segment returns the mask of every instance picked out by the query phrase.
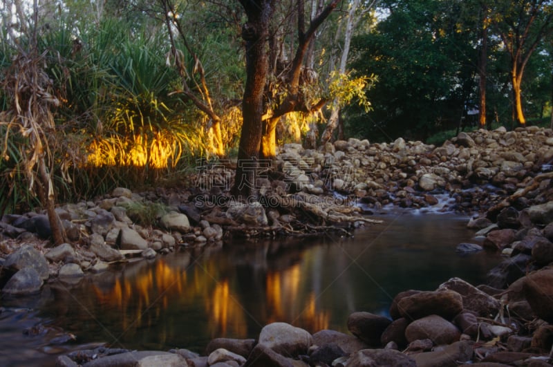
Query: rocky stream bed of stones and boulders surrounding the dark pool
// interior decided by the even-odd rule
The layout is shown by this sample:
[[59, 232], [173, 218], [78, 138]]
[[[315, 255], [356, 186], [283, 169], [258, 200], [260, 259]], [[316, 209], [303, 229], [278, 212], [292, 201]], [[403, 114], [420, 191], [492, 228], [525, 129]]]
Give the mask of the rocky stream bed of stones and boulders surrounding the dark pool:
[[[42, 213], [0, 221], [0, 285], [9, 297], [53, 279], [102, 272], [112, 263], [162, 256], [227, 236], [348, 235], [386, 205], [471, 215], [482, 247], [505, 260], [486, 284], [449, 279], [434, 291], [395, 296], [390, 318], [359, 310], [350, 334], [310, 334], [288, 323], [257, 339], [214, 339], [204, 353], [102, 346], [57, 359], [59, 366], [552, 366], [553, 131], [530, 126], [460, 133], [440, 147], [395, 140], [337, 141], [319, 150], [286, 144], [262, 162], [256, 200], [229, 196], [232, 170], [208, 162], [196, 185], [142, 193], [118, 188], [57, 209], [71, 243], [52, 247]], [[152, 225], [153, 224], [153, 225]], [[1, 308], [0, 308], [1, 312]]]

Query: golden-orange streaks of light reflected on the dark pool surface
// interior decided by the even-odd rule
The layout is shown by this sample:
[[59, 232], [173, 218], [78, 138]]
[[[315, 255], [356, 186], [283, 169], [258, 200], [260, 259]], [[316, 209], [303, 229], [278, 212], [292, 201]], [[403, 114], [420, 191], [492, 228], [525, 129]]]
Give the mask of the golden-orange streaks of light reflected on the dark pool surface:
[[[245, 338], [247, 312], [241, 299], [233, 292], [229, 279], [217, 281], [216, 265], [207, 262], [194, 267], [187, 275], [182, 267], [171, 267], [165, 261], [144, 266], [134, 276], [122, 276], [106, 290], [94, 285], [96, 301], [118, 308], [116, 317], [126, 333], [158, 324], [164, 312], [184, 309], [200, 300], [207, 317], [206, 328], [212, 337]], [[260, 313], [266, 310], [266, 319], [260, 323], [286, 321], [312, 331], [328, 328], [330, 313], [317, 310], [314, 292], [301, 297], [300, 264], [266, 274], [265, 304], [260, 300]], [[201, 301], [200, 301], [201, 302]], [[255, 313], [255, 312], [254, 312]], [[160, 335], [169, 335], [174, 325], [157, 325]]]

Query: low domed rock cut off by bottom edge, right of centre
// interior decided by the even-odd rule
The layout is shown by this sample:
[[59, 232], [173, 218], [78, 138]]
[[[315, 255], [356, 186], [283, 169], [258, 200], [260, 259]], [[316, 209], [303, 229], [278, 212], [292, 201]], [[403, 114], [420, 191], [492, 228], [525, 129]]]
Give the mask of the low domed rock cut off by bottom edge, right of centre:
[[415, 360], [393, 349], [363, 349], [348, 359], [347, 366], [355, 367], [417, 367]]

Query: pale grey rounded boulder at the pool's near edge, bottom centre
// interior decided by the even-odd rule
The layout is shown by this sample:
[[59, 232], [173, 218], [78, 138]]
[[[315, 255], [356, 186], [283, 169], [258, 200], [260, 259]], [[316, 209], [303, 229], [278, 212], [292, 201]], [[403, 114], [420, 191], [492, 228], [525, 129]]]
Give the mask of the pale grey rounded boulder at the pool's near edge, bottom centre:
[[286, 357], [297, 357], [307, 354], [313, 344], [313, 338], [306, 330], [289, 323], [276, 322], [261, 329], [259, 344]]

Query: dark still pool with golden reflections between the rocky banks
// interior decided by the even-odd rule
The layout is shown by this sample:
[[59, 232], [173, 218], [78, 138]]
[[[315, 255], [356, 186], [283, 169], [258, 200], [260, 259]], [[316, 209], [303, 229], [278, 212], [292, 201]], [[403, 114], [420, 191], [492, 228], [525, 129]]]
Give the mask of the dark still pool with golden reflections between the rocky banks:
[[[50, 283], [29, 299], [4, 297], [0, 343], [8, 348], [0, 362], [44, 365], [56, 353], [98, 344], [202, 352], [210, 339], [255, 338], [274, 321], [347, 332], [351, 312], [386, 315], [397, 292], [434, 290], [453, 276], [483, 283], [500, 261], [456, 254], [459, 243], [474, 242], [466, 217], [379, 218], [383, 224], [353, 238], [234, 240], [126, 263], [75, 284]], [[28, 335], [33, 326], [45, 328]], [[62, 331], [76, 340], [59, 343]]]

